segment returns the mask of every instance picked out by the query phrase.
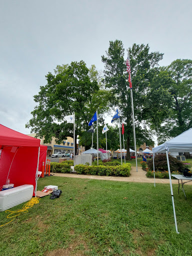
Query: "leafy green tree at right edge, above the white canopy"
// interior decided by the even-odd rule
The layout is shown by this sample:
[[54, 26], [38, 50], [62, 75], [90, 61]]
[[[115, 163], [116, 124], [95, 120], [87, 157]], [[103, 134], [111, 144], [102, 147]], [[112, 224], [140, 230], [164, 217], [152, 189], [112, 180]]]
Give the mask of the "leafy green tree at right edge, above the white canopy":
[[176, 59], [162, 67], [150, 87], [150, 120], [163, 142], [192, 127], [192, 60]]

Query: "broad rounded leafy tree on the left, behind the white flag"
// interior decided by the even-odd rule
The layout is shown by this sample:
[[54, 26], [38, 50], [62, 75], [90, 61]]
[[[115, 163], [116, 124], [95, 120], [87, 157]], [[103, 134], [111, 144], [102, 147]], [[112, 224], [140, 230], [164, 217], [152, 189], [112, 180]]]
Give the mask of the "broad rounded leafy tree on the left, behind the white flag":
[[63, 117], [75, 113], [76, 145], [77, 135], [88, 129], [95, 110], [99, 108], [102, 114], [107, 109], [108, 93], [99, 89], [96, 70], [92, 69], [93, 74], [81, 60], [57, 65], [55, 74], [48, 72], [47, 84], [34, 95], [37, 105], [26, 127], [31, 127], [37, 136], [44, 136], [45, 142], [54, 136], [61, 143], [67, 136], [73, 137], [73, 124], [66, 123]]

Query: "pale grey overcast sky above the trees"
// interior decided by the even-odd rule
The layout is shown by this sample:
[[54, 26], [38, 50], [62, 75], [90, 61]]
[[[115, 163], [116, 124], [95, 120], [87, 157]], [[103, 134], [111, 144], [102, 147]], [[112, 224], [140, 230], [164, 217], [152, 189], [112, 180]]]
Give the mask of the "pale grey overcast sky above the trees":
[[0, 124], [30, 133], [25, 123], [45, 75], [81, 59], [103, 69], [109, 40], [125, 49], [148, 43], [164, 53], [160, 65], [191, 59], [191, 7], [191, 0], [0, 0]]

